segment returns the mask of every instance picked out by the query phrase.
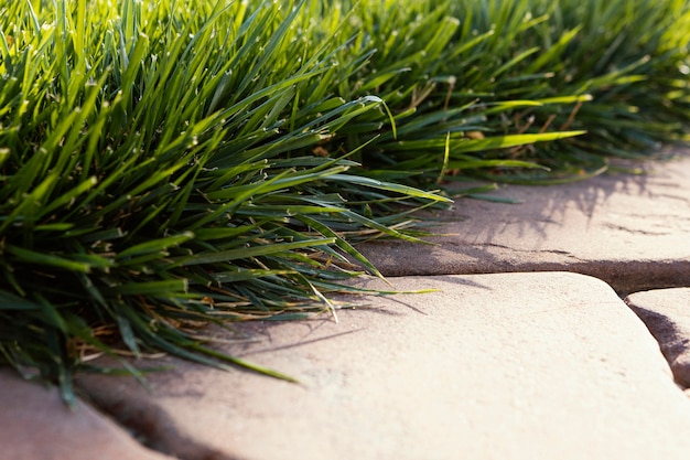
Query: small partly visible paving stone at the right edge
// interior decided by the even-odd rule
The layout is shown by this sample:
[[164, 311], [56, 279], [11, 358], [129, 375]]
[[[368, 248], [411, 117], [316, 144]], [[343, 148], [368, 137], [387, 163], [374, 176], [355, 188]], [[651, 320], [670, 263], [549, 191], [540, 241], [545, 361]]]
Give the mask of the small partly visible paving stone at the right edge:
[[690, 387], [690, 288], [636, 292], [625, 302], [659, 342], [676, 381]]

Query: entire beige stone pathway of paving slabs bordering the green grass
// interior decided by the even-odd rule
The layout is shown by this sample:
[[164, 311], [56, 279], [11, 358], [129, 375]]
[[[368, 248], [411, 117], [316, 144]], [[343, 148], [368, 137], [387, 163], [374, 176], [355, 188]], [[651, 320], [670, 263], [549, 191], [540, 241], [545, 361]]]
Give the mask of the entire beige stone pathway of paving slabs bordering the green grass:
[[164, 357], [141, 363], [175, 366], [152, 393], [82, 376], [69, 411], [0, 372], [0, 459], [686, 459], [690, 157], [654, 168], [508, 186], [524, 204], [463, 200], [436, 246], [363, 247], [433, 292], [211, 331], [300, 384]]

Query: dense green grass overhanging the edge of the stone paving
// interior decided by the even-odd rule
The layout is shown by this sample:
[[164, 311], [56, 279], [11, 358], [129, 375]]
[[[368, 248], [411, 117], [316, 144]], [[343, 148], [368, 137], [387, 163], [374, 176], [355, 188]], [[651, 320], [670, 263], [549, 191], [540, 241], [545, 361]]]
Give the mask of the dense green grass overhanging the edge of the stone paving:
[[289, 378], [195, 328], [334, 311], [448, 179], [683, 139], [688, 6], [0, 1], [0, 360], [67, 399], [93, 352]]

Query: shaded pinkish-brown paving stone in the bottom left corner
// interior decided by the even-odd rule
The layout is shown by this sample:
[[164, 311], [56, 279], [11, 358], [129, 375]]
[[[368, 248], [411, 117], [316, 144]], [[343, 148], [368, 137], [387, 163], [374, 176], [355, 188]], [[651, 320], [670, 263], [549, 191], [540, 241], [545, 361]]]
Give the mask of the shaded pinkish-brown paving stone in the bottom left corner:
[[7, 368], [0, 368], [0, 459], [172, 460], [141, 447], [88, 405], [69, 409], [56, 388]]

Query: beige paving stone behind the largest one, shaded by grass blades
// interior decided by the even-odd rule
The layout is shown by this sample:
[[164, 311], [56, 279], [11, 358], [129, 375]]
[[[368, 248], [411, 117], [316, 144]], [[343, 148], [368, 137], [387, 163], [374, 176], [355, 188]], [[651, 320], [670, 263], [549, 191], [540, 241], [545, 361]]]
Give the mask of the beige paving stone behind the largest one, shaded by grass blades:
[[386, 276], [563, 270], [621, 293], [690, 286], [690, 154], [647, 175], [552, 188], [505, 186], [522, 204], [461, 200], [430, 238], [438, 246], [358, 246]]

